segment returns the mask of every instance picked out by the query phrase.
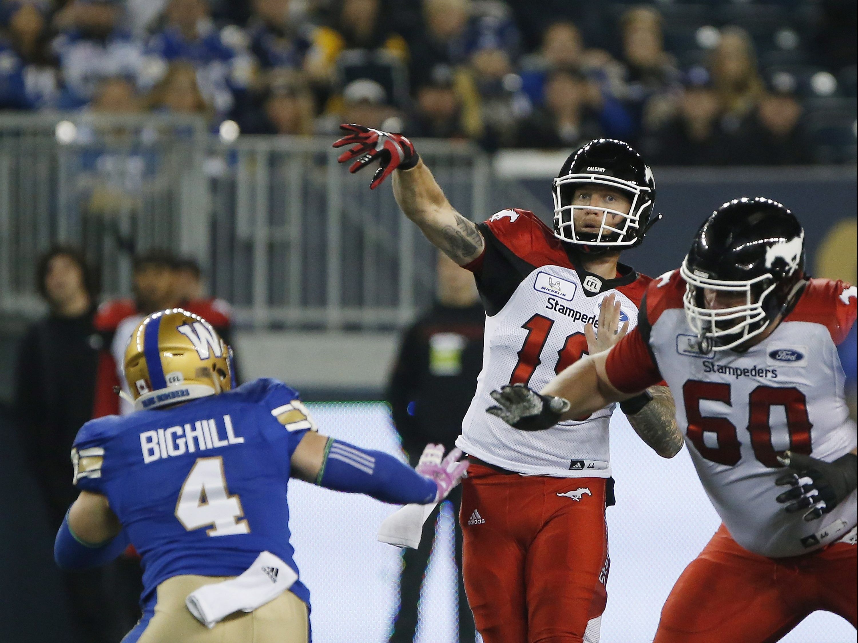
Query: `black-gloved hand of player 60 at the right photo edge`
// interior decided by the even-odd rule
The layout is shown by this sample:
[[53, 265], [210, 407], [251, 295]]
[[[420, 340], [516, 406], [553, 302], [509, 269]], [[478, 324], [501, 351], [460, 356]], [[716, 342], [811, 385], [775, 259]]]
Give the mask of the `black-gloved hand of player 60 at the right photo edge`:
[[791, 488], [776, 500], [786, 505], [789, 514], [807, 509], [804, 519], [808, 522], [831, 512], [858, 486], [858, 456], [855, 454], [825, 462], [785, 451], [777, 460], [790, 471], [777, 478], [775, 484]]

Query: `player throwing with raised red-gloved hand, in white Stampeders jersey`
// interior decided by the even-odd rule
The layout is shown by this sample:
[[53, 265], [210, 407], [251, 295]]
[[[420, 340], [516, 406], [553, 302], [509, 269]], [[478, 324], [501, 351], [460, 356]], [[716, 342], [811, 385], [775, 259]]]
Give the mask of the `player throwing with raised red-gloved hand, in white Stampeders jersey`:
[[[335, 147], [354, 147], [339, 160], [357, 159], [352, 172], [380, 160], [371, 188], [399, 170], [394, 194], [402, 212], [474, 273], [486, 308], [483, 370], [456, 442], [471, 462], [459, 520], [477, 629], [486, 643], [595, 642], [607, 600], [613, 409], [538, 433], [511, 430], [484, 409], [492, 388], [541, 387], [635, 324], [650, 279], [618, 258], [656, 220], [652, 172], [625, 143], [591, 141], [554, 181], [553, 231], [519, 209], [475, 225], [450, 205], [407, 138], [360, 125], [341, 129], [349, 134]], [[653, 384], [622, 410], [650, 447], [672, 457], [682, 446], [673, 400]]]

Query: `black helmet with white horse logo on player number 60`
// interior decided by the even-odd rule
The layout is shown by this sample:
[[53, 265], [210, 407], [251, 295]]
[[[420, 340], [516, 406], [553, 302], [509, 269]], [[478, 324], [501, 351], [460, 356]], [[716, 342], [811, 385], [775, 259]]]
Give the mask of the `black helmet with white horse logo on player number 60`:
[[[761, 196], [719, 207], [680, 267], [686, 319], [701, 348], [726, 351], [762, 333], [795, 300], [804, 265], [804, 230], [786, 207]], [[705, 291], [734, 292], [744, 302], [707, 308]]]

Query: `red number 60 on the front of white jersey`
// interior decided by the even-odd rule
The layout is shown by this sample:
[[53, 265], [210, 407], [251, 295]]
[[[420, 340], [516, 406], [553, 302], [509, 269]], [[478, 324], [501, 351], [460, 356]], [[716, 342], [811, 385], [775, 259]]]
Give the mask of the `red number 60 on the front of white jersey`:
[[[736, 427], [727, 418], [710, 418], [700, 414], [700, 400], [713, 400], [732, 406], [730, 385], [720, 382], [689, 380], [682, 386], [688, 418], [688, 439], [706, 460], [734, 466], [741, 459]], [[781, 467], [771, 443], [769, 412], [772, 406], [782, 406], [787, 415], [789, 450], [797, 454], [811, 453], [810, 418], [807, 399], [798, 388], [758, 386], [748, 400], [748, 433], [757, 460], [771, 468]], [[707, 436], [707, 434], [709, 434]]]

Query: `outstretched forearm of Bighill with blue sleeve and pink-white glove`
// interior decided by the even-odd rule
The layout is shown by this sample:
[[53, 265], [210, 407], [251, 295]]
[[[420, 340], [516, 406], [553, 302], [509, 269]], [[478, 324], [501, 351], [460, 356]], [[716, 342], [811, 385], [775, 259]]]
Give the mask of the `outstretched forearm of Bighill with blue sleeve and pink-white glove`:
[[416, 469], [392, 455], [356, 447], [308, 431], [292, 455], [293, 478], [336, 491], [362, 493], [393, 504], [428, 504], [443, 500], [468, 470], [453, 449], [426, 446]]

